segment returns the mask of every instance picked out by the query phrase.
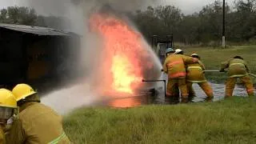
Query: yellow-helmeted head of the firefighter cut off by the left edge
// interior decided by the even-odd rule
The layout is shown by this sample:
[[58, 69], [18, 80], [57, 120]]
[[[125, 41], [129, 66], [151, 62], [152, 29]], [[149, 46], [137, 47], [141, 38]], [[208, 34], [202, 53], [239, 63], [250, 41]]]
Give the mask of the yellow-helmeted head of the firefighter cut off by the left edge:
[[0, 123], [6, 123], [17, 108], [14, 94], [10, 90], [0, 89]]

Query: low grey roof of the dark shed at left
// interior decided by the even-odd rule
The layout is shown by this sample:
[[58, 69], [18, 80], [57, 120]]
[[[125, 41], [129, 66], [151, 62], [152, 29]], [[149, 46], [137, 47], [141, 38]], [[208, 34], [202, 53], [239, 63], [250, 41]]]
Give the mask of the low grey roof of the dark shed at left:
[[40, 27], [40, 26], [25, 26], [25, 25], [0, 23], [0, 28], [21, 31], [29, 34], [38, 34], [38, 35], [62, 35], [62, 36], [72, 35], [72, 33], [65, 32], [62, 30], [55, 30], [52, 28]]

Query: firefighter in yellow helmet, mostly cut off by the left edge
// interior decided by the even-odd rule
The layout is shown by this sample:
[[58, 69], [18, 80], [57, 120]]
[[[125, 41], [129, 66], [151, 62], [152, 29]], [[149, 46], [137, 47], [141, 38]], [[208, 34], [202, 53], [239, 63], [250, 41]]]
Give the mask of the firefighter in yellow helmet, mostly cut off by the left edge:
[[0, 89], [0, 143], [5, 144], [6, 126], [8, 119], [17, 111], [17, 102], [10, 90]]

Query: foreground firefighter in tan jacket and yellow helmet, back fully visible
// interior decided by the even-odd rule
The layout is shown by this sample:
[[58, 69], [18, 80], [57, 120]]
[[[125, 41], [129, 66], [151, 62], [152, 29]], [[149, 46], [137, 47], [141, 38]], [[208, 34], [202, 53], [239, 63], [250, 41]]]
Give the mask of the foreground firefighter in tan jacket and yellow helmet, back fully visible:
[[20, 112], [6, 134], [7, 143], [70, 143], [62, 128], [62, 117], [40, 103], [31, 86], [18, 84], [12, 92]]

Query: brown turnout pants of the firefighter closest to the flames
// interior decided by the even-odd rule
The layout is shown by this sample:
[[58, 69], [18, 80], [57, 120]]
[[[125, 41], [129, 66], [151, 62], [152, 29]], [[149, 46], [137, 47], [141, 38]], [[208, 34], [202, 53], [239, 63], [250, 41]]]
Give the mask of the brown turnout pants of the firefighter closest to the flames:
[[[178, 86], [178, 87], [177, 87]], [[169, 78], [167, 83], [166, 95], [174, 97], [181, 91], [182, 98], [188, 97], [188, 91], [186, 88], [186, 78]]]

